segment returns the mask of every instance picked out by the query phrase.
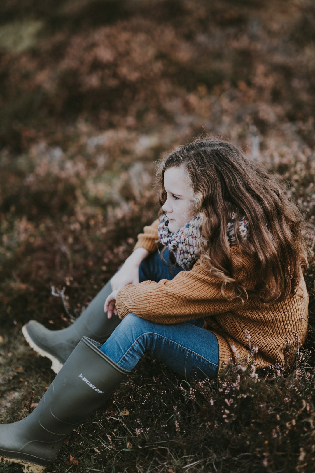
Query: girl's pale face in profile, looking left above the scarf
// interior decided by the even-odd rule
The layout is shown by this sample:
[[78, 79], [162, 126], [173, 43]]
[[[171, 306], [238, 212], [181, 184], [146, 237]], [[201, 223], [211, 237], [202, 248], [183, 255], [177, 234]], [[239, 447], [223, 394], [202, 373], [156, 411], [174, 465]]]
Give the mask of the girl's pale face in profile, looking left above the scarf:
[[172, 166], [166, 169], [164, 188], [167, 199], [162, 205], [162, 210], [169, 220], [170, 232], [174, 233], [195, 216], [193, 189], [187, 183], [184, 166]]

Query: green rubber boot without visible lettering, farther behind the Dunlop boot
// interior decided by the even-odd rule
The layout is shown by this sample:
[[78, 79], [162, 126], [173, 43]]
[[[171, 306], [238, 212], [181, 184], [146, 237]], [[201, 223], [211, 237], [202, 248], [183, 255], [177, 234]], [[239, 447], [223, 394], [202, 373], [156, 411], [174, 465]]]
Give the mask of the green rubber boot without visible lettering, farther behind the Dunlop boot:
[[111, 294], [109, 281], [90, 302], [77, 320], [63, 330], [49, 330], [36, 320], [30, 320], [22, 328], [26, 342], [41, 356], [51, 360], [51, 369], [57, 374], [82, 337], [104, 343], [120, 323], [119, 317], [111, 319], [104, 313], [104, 303]]

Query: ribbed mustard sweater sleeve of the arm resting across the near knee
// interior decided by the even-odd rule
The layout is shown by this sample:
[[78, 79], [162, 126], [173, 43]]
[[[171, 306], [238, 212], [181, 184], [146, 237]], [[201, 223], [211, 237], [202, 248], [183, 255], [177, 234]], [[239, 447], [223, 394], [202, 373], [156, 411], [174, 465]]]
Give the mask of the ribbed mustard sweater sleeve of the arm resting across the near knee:
[[[226, 291], [229, 297], [229, 291]], [[120, 289], [116, 299], [119, 317], [129, 312], [162, 324], [176, 324], [245, 307], [240, 298], [229, 301], [221, 293], [221, 281], [198, 262], [191, 271], [181, 271], [174, 279], [144, 281]]]

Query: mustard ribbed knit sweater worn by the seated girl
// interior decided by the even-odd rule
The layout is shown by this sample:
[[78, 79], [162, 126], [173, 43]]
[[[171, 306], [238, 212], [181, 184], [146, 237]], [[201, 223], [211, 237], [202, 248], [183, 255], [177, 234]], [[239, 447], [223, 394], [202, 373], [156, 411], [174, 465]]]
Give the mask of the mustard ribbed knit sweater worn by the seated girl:
[[[144, 228], [138, 235], [135, 249], [142, 247], [156, 251], [159, 220]], [[249, 258], [241, 255], [238, 245], [231, 247], [233, 278], [242, 280], [247, 289], [254, 289], [254, 268]], [[301, 272], [298, 291], [293, 297], [270, 304], [262, 309], [250, 298], [229, 301], [221, 295], [221, 281], [198, 261], [191, 271], [181, 271], [174, 279], [159, 282], [144, 281], [136, 286], [129, 284], [120, 289], [116, 307], [119, 317], [129, 312], [138, 317], [161, 324], [177, 324], [191, 318], [203, 317], [204, 329], [213, 332], [219, 342], [219, 362], [236, 359], [234, 345], [239, 358], [246, 358], [245, 331], [251, 335], [251, 343], [258, 346], [256, 368], [269, 367], [275, 363], [284, 366], [284, 350], [288, 342], [294, 345], [296, 333], [303, 343], [307, 333], [308, 294]], [[294, 361], [290, 356], [289, 364]]]

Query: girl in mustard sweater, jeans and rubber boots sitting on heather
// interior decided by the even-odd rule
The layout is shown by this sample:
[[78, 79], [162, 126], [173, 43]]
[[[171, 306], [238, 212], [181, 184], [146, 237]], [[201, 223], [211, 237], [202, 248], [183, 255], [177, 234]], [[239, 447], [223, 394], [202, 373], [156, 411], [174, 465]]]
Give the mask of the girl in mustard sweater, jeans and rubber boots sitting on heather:
[[23, 327], [55, 371], [64, 366], [28, 417], [0, 426], [2, 461], [43, 471], [145, 351], [183, 376], [213, 378], [246, 359], [247, 330], [256, 368], [284, 367], [287, 342], [304, 342], [304, 224], [281, 184], [211, 139], [171, 152], [157, 184], [160, 218], [75, 324]]

